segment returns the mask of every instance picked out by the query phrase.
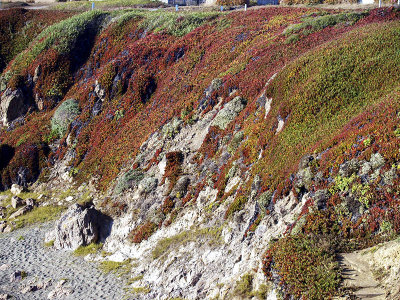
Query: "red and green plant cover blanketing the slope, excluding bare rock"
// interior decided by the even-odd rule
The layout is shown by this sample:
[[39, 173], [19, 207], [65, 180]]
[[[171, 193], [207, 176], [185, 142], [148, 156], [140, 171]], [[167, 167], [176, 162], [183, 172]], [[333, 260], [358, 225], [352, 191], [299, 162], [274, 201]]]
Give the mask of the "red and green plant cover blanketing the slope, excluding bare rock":
[[[192, 163], [217, 161], [225, 146], [227, 159], [199, 172], [181, 202], [211, 186], [217, 205], [234, 198], [230, 219], [257, 199], [251, 234], [280, 199], [304, 201], [266, 249], [264, 271], [286, 295], [329, 298], [340, 283], [339, 251], [400, 230], [399, 24], [393, 8], [94, 11], [49, 26], [18, 55], [2, 40], [1, 49], [16, 51], [4, 60], [3, 97], [19, 89], [35, 104], [0, 132], [0, 184], [45, 180], [70, 152], [76, 183], [96, 178], [99, 190], [116, 183], [122, 193], [143, 180], [137, 164], [115, 179], [153, 132], [168, 123], [172, 139], [219, 105]], [[140, 168], [159, 163], [162, 151]], [[166, 154], [163, 182], [177, 184], [183, 160], [180, 151]], [[227, 189], [232, 172], [245, 184]], [[173, 214], [174, 201], [164, 199], [163, 215]], [[131, 240], [147, 239], [162, 222], [143, 222]]]

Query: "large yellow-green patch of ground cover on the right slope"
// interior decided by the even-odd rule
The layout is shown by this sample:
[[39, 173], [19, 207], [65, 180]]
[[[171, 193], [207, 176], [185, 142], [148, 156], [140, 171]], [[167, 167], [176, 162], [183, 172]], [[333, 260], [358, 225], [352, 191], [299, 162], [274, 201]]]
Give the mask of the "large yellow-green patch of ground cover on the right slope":
[[367, 25], [307, 53], [277, 75], [266, 92], [273, 99], [270, 115], [287, 120], [253, 168], [255, 174], [275, 174], [266, 185], [277, 187], [278, 174], [317, 143], [323, 149], [331, 146], [351, 118], [397, 89], [399, 31], [398, 22]]

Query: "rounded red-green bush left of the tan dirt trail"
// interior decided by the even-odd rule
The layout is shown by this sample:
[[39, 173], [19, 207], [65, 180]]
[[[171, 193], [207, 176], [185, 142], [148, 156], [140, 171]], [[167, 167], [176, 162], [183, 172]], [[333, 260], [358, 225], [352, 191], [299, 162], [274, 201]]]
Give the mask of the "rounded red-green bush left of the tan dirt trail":
[[279, 276], [286, 292], [296, 298], [329, 299], [340, 285], [331, 244], [317, 236], [286, 236], [268, 249], [263, 264], [268, 278]]

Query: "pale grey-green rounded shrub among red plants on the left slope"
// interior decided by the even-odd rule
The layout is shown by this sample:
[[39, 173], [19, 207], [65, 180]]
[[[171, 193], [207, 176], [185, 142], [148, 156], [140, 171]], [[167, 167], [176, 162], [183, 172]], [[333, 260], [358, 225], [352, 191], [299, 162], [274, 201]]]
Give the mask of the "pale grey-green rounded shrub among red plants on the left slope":
[[79, 115], [79, 105], [74, 99], [64, 101], [51, 119], [51, 130], [58, 137], [63, 137], [71, 122]]

